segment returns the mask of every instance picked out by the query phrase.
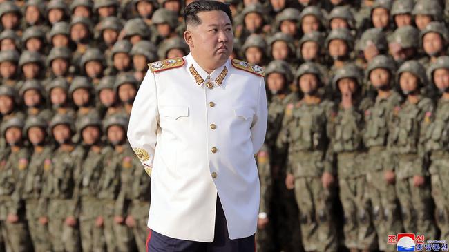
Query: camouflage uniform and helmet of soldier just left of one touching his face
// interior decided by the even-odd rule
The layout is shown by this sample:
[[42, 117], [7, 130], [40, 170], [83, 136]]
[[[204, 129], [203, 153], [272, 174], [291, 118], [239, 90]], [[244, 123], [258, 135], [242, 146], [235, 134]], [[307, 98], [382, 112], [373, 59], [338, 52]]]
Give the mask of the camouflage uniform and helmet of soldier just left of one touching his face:
[[[316, 74], [313, 63], [304, 63], [296, 72]], [[296, 202], [300, 211], [300, 227], [305, 251], [336, 251], [338, 241], [332, 219], [332, 188], [321, 182], [324, 172], [334, 174], [327, 158], [328, 121], [333, 104], [329, 101], [307, 104], [289, 103], [276, 145], [288, 149], [287, 173], [293, 174]]]

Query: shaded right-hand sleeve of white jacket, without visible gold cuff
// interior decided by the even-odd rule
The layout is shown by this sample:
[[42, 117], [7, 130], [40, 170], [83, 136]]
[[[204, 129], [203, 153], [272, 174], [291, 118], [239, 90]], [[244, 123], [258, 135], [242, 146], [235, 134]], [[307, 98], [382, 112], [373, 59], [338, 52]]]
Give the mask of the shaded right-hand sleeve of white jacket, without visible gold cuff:
[[251, 125], [251, 141], [253, 142], [254, 155], [256, 155], [262, 147], [267, 133], [268, 106], [263, 77], [260, 78], [257, 111], [254, 119]]

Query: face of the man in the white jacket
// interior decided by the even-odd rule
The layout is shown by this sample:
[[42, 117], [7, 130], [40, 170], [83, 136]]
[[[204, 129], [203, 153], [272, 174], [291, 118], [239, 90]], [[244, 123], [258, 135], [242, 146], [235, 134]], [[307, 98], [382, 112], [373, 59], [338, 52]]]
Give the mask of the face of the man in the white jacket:
[[187, 25], [184, 34], [191, 52], [200, 61], [224, 63], [233, 49], [231, 20], [225, 12], [213, 10], [198, 13], [200, 25]]

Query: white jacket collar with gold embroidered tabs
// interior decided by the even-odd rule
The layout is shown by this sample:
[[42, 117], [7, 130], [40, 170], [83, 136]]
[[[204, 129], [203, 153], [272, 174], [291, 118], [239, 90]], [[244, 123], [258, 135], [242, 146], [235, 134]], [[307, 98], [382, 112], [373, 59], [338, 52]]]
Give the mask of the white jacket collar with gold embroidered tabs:
[[187, 71], [195, 81], [195, 85], [197, 85], [198, 87], [202, 87], [202, 85], [211, 85], [208, 85], [210, 77], [210, 81], [213, 84], [211, 87], [223, 87], [223, 85], [225, 84], [225, 78], [229, 71], [229, 60], [227, 60], [226, 63], [222, 66], [216, 68], [216, 70], [213, 70], [211, 74], [207, 74], [207, 72], [202, 69], [200, 65], [198, 65], [195, 59], [193, 59], [191, 53], [186, 56], [186, 60]]

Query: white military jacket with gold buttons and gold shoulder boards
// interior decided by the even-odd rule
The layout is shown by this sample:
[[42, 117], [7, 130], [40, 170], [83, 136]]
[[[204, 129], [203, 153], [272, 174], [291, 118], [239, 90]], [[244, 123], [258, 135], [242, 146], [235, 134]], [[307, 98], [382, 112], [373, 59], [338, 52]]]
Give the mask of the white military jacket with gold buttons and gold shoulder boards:
[[254, 155], [267, 128], [262, 68], [228, 60], [209, 78], [191, 54], [149, 67], [127, 133], [151, 175], [148, 227], [213, 242], [218, 193], [229, 238], [253, 235], [260, 200]]

